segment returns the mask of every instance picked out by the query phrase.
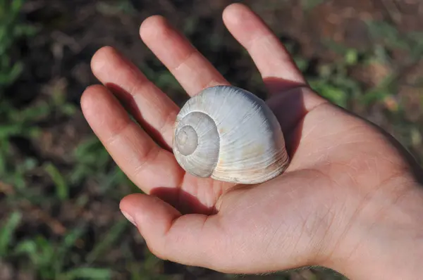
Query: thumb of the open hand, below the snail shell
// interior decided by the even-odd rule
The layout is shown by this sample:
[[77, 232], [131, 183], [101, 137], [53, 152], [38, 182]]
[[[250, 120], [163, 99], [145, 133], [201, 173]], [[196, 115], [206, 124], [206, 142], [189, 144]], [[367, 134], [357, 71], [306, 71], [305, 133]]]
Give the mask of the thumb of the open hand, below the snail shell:
[[120, 208], [157, 257], [222, 271], [225, 238], [219, 215], [181, 215], [160, 198], [140, 193], [123, 198]]

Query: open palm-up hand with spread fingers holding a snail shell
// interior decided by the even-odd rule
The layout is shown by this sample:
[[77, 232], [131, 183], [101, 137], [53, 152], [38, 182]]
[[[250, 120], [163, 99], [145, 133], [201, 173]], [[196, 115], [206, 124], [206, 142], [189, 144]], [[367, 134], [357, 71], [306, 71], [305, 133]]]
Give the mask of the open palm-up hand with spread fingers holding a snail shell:
[[[228, 273], [321, 265], [350, 279], [421, 276], [422, 170], [415, 160], [379, 127], [309, 89], [249, 8], [228, 6], [223, 22], [255, 62], [286, 136], [288, 170], [264, 184], [185, 173], [171, 153], [178, 106], [115, 49], [105, 46], [92, 58], [102, 85], [85, 90], [82, 111], [144, 192], [123, 198], [120, 208], [152, 253]], [[147, 18], [140, 37], [190, 96], [229, 84], [164, 18]]]

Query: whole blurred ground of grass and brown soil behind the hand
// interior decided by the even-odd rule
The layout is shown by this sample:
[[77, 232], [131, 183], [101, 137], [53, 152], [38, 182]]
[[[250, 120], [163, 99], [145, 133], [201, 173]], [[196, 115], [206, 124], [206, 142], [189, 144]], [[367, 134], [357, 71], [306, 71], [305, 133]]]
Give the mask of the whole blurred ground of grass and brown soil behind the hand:
[[[186, 95], [138, 30], [166, 16], [233, 84], [264, 96], [247, 53], [223, 27], [229, 0], [0, 0], [0, 279], [343, 279], [323, 268], [235, 276], [163, 262], [118, 209], [139, 191], [80, 111], [104, 45], [178, 104]], [[423, 159], [421, 0], [262, 0], [248, 4], [322, 95]]]

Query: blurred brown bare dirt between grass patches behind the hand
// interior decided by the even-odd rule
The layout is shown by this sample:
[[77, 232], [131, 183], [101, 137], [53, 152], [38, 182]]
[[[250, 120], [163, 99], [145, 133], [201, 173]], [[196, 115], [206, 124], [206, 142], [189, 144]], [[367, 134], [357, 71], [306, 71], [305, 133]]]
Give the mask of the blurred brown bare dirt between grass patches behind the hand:
[[[223, 8], [233, 2], [249, 4], [262, 15], [281, 40], [292, 47], [293, 53], [310, 62], [305, 69], [305, 74], [309, 76], [316, 75], [319, 65], [335, 63], [339, 59], [339, 54], [328, 48], [324, 39], [331, 39], [333, 42], [363, 52], [374, 47], [377, 42], [369, 34], [364, 20], [373, 19], [391, 23], [398, 27], [401, 33], [423, 31], [423, 4], [419, 0], [30, 0], [24, 6], [23, 18], [27, 23], [39, 28], [39, 31], [35, 37], [25, 39], [16, 46], [15, 54], [23, 60], [25, 68], [23, 75], [6, 91], [8, 98], [17, 110], [24, 110], [34, 104], [50, 100], [59, 92], [63, 94], [65, 99], [63, 102], [72, 104], [77, 111], [72, 115], [54, 111], [47, 119], [35, 122], [34, 125], [42, 130], [38, 139], [30, 140], [24, 137], [13, 139], [17, 160], [27, 157], [37, 158], [40, 163], [53, 163], [65, 174], [75, 165], [73, 151], [83, 140], [92, 136], [90, 127], [80, 113], [80, 96], [87, 86], [98, 83], [90, 70], [90, 59], [102, 46], [116, 47], [145, 70], [147, 76], [154, 79], [178, 104], [186, 100], [182, 89], [168, 77], [164, 66], [140, 40], [138, 33], [140, 23], [149, 15], [166, 16], [173, 25], [187, 34], [192, 43], [229, 81], [251, 89], [259, 96], [264, 96], [264, 89], [262, 84], [257, 82], [257, 70], [252, 61], [243, 54], [221, 21]], [[317, 3], [317, 6], [307, 8], [306, 2]], [[423, 61], [408, 63], [406, 59], [408, 53], [393, 52], [391, 53], [393, 63], [390, 65], [380, 63], [357, 65], [348, 73], [349, 77], [366, 88], [379, 84], [383, 77], [394, 70], [393, 68], [401, 69], [394, 100], [386, 99], [366, 106], [360, 102], [350, 103], [350, 108], [356, 113], [378, 123], [398, 137], [403, 137], [403, 130], [407, 130], [407, 124], [422, 124], [423, 120], [422, 102], [419, 102], [422, 100], [422, 91], [407, 86], [409, 82], [422, 77]], [[395, 125], [396, 118], [389, 113], [389, 105], [398, 100], [404, 105], [405, 120], [400, 125]], [[404, 141], [410, 144], [407, 147], [417, 157], [423, 155], [422, 148], [408, 142], [406, 138]], [[113, 163], [108, 162], [104, 170], [112, 172], [113, 168]], [[25, 180], [37, 195], [54, 192], [51, 179], [37, 168], [32, 170]], [[101, 182], [98, 179], [85, 177], [78, 184], [75, 183], [71, 199], [63, 203], [46, 202], [34, 205], [18, 201], [13, 207], [25, 209], [28, 213], [24, 225], [18, 229], [18, 240], [27, 235], [37, 234], [52, 240], [60, 239], [68, 229], [80, 224], [82, 220], [87, 230], [80, 238], [79, 246], [73, 249], [73, 254], [87, 257], [94, 244], [103, 238], [104, 231], [111, 229], [116, 221], [122, 219], [118, 211], [118, 198], [133, 191], [131, 189], [133, 186], [124, 183], [118, 184], [118, 189], [105, 191]], [[75, 201], [82, 197], [88, 202], [79, 207]], [[10, 209], [8, 206], [4, 213], [10, 212]], [[146, 260], [145, 243], [135, 229], [129, 227], [120, 235], [119, 241], [121, 242], [118, 246], [110, 248], [106, 255], [98, 257], [94, 263], [97, 266], [111, 267], [116, 273], [116, 279], [130, 279], [128, 265], [139, 265]], [[20, 265], [16, 263], [8, 262], [3, 265], [12, 271], [10, 275], [20, 269]], [[223, 279], [222, 274], [207, 269], [184, 267], [171, 262], [164, 262], [154, 267], [156, 268], [152, 270], [160, 269], [160, 272], [154, 273], [169, 277], [165, 279]], [[4, 269], [0, 269], [2, 270]], [[313, 274], [316, 278], [312, 278]], [[27, 278], [13, 275], [16, 278], [11, 279], [35, 279], [31, 274], [25, 274]], [[154, 277], [156, 276], [150, 278], [147, 276], [143, 279], [159, 279], [158, 276]], [[267, 277], [271, 279], [272, 276], [251, 276], [251, 279], [268, 279]], [[274, 277], [274, 279], [339, 279], [319, 269]], [[243, 279], [250, 278], [245, 276]]]

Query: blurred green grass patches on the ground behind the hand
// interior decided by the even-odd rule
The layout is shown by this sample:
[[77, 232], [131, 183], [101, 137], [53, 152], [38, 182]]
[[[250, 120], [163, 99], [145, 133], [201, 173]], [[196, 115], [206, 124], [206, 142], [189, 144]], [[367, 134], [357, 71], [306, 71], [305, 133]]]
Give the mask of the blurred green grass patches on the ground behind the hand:
[[[309, 11], [321, 2], [304, 1], [305, 9]], [[7, 94], [25, 69], [14, 46], [38, 32], [21, 18], [23, 3], [0, 0], [1, 262], [37, 279], [176, 279], [164, 274], [166, 263], [149, 253], [142, 238], [136, 237], [133, 227], [118, 213], [119, 199], [138, 189], [114, 165], [94, 135], [82, 137], [68, 151], [69, 160], [23, 153], [22, 146], [27, 142], [17, 144], [21, 139], [42, 141], [51, 120], [69, 120], [80, 114], [61, 90], [23, 108], [13, 104], [13, 94]], [[130, 1], [119, 3], [100, 3], [97, 9], [108, 14], [133, 13]], [[187, 20], [188, 33], [195, 30], [196, 22], [195, 18]], [[405, 70], [423, 54], [423, 34], [402, 34], [384, 22], [369, 22], [368, 28], [377, 42], [371, 49], [359, 51], [329, 41], [327, 48], [338, 53], [338, 58], [319, 63], [309, 72], [314, 67], [312, 61], [291, 50], [295, 62], [305, 71], [311, 86], [339, 106], [359, 113], [382, 106], [391, 132], [422, 160], [422, 126], [409, 120], [398, 91]], [[219, 50], [219, 44], [223, 44], [221, 40], [213, 48]], [[391, 56], [397, 49], [407, 53], [400, 64]], [[369, 65], [395, 70], [369, 87], [351, 75]], [[168, 72], [142, 69], [159, 87], [180, 89]], [[421, 89], [423, 83], [417, 80], [412, 86]], [[421, 102], [423, 108], [423, 98]], [[95, 210], [99, 205], [106, 208]], [[74, 217], [63, 214], [65, 207]], [[104, 217], [102, 212], [106, 212]], [[289, 275], [274, 274], [269, 279], [289, 279]], [[317, 276], [317, 272], [307, 275], [308, 279], [341, 279], [331, 274]]]

